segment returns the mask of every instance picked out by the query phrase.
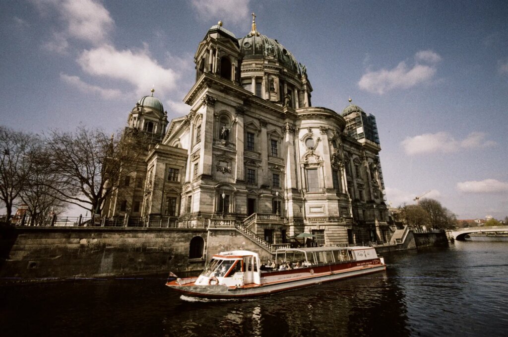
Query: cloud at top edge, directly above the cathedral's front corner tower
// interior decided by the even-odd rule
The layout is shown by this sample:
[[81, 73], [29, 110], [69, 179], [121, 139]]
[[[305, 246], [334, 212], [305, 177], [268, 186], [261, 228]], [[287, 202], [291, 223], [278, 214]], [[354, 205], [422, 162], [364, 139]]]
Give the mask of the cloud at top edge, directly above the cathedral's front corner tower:
[[250, 0], [192, 0], [194, 8], [201, 17], [216, 17], [225, 26], [231, 23], [241, 23], [249, 16]]

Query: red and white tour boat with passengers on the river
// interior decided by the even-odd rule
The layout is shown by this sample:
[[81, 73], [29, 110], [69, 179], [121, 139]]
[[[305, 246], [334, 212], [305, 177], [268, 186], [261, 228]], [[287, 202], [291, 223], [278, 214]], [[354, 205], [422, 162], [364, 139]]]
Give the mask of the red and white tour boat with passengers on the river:
[[255, 252], [230, 251], [214, 255], [199, 277], [166, 285], [190, 297], [245, 298], [383, 270], [384, 259], [371, 247], [283, 248], [268, 266]]

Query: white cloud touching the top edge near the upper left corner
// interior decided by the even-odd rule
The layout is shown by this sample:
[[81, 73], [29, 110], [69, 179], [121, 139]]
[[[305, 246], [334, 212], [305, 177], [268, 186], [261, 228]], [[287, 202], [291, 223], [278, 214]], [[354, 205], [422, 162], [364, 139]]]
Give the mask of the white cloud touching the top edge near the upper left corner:
[[[56, 35], [60, 40], [76, 38], [98, 45], [108, 40], [109, 32], [114, 26], [108, 10], [98, 1], [45, 0], [35, 2], [35, 5], [41, 14], [47, 15], [50, 11], [58, 14], [58, 18], [65, 25], [65, 28], [57, 28]], [[46, 45], [48, 44], [54, 42]]]

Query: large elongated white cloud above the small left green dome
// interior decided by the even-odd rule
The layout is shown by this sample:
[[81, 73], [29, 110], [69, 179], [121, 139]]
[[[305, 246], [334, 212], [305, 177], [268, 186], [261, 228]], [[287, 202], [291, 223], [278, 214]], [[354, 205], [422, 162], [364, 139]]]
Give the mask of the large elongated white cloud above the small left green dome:
[[158, 64], [146, 49], [116, 50], [104, 45], [83, 51], [77, 62], [88, 74], [131, 83], [138, 96], [147, 94], [152, 86], [157, 91], [172, 90], [180, 77], [174, 70]]

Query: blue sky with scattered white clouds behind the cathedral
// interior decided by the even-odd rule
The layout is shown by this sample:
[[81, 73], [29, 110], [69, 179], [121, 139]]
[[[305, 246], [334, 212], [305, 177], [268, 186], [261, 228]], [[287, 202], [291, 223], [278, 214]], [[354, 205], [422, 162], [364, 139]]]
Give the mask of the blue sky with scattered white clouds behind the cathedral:
[[508, 2], [0, 2], [1, 124], [114, 132], [152, 85], [188, 112], [194, 53], [257, 15], [307, 68], [312, 104], [376, 116], [387, 199], [424, 192], [459, 219], [508, 215]]

